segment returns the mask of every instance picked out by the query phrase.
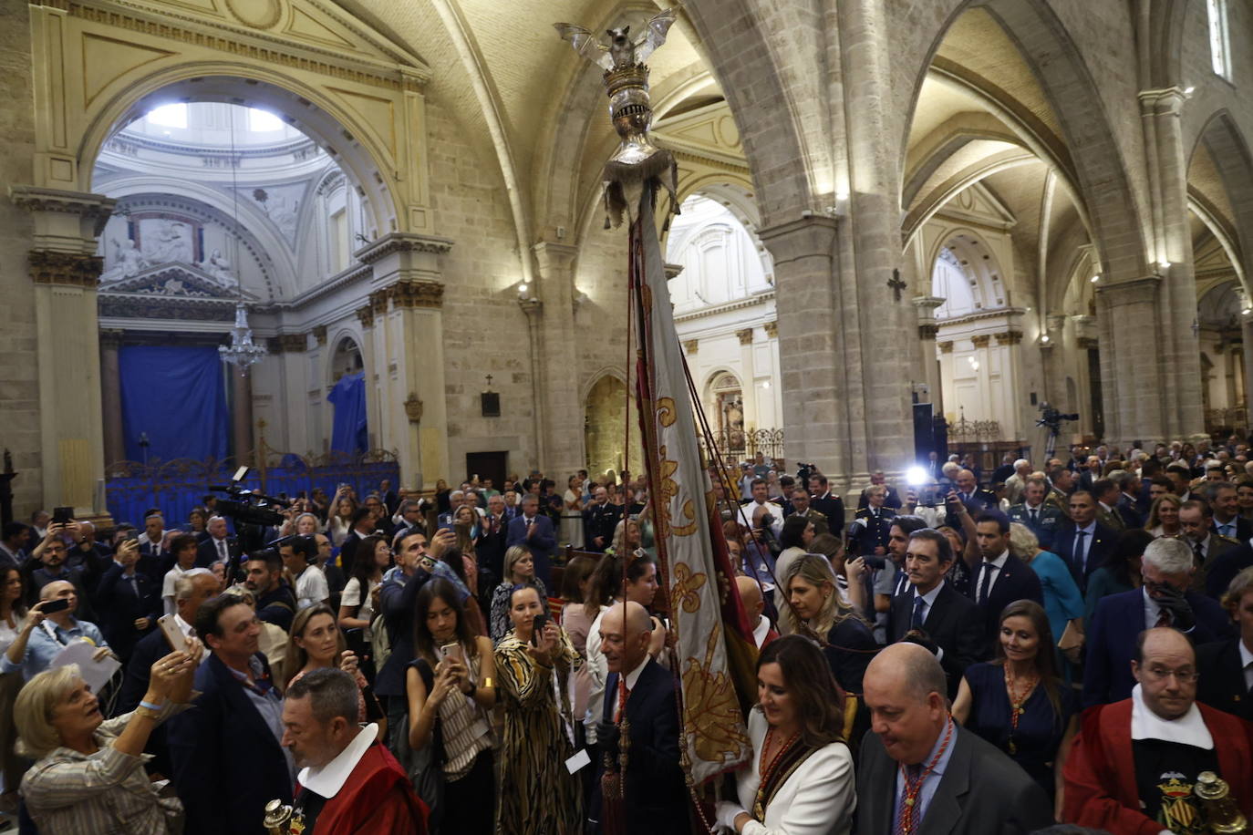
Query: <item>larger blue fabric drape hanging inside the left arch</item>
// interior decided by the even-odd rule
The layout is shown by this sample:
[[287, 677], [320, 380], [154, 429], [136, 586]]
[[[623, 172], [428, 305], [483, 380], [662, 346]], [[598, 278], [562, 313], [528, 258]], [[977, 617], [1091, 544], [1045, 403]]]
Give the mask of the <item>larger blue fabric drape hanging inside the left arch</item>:
[[226, 457], [231, 418], [217, 348], [128, 346], [118, 364], [128, 458], [144, 459], [142, 432], [149, 461]]

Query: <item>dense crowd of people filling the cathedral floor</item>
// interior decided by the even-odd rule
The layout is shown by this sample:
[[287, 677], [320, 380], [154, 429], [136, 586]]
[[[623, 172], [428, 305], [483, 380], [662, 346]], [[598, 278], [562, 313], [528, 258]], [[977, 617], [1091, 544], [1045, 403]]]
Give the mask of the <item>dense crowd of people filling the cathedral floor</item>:
[[875, 473], [848, 512], [813, 467], [712, 468], [757, 687], [752, 757], [699, 787], [643, 478], [341, 484], [252, 530], [211, 496], [101, 535], [40, 513], [0, 537], [0, 805], [41, 832], [1240, 831], [1248, 447], [1041, 463]]

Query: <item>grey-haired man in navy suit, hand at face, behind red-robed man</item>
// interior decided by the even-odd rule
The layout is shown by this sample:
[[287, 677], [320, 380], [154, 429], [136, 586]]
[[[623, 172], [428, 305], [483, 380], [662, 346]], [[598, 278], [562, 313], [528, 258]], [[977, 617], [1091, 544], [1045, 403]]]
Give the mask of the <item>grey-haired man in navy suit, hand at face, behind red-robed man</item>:
[[1233, 632], [1223, 607], [1189, 591], [1192, 548], [1182, 540], [1154, 540], [1144, 548], [1140, 573], [1144, 586], [1110, 595], [1096, 605], [1088, 628], [1084, 661], [1084, 707], [1130, 699], [1135, 677], [1131, 657], [1144, 630], [1173, 626], [1194, 645], [1225, 638]]

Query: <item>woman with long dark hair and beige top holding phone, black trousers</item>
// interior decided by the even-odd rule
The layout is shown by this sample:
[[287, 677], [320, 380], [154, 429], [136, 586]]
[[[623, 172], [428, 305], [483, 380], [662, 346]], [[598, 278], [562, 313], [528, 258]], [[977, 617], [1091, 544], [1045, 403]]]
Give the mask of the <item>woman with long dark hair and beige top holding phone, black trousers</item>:
[[[420, 795], [442, 779], [442, 802], [431, 809], [431, 831], [489, 835], [495, 822], [494, 740], [489, 710], [496, 704], [491, 640], [472, 633], [461, 595], [446, 580], [422, 586], [413, 605], [417, 658], [405, 672], [408, 746], [440, 774], [415, 780]], [[430, 756], [422, 757], [426, 752]], [[424, 796], [431, 805], [434, 797]]]

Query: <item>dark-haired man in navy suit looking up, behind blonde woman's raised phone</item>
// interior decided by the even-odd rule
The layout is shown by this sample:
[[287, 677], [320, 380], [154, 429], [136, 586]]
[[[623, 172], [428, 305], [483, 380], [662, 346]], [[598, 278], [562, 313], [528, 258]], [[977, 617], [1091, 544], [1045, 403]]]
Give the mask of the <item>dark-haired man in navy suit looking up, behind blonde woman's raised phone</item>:
[[292, 801], [283, 699], [261, 653], [261, 621], [239, 595], [200, 606], [195, 632], [213, 651], [195, 671], [200, 695], [169, 720], [174, 786], [187, 835], [264, 835], [266, 804]]

